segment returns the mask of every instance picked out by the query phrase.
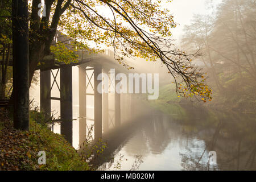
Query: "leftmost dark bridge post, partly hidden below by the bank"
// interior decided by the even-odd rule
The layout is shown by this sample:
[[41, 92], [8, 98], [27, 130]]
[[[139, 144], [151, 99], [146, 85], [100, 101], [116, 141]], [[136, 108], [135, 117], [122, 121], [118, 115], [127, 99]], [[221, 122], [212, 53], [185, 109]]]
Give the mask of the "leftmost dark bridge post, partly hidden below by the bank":
[[51, 70], [40, 71], [40, 110], [51, 117]]

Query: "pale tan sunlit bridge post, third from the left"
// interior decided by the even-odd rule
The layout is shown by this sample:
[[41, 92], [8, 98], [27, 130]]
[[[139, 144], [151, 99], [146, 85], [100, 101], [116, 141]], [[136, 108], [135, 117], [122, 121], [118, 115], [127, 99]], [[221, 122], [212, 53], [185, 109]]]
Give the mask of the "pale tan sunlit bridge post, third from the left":
[[79, 67], [79, 146], [86, 139], [86, 71]]

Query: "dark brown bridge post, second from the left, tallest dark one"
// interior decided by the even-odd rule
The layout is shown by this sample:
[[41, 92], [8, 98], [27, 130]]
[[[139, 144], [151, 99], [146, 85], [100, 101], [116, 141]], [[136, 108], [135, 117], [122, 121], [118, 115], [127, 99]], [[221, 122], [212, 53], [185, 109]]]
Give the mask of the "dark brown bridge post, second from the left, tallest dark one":
[[72, 67], [60, 68], [60, 133], [72, 144]]

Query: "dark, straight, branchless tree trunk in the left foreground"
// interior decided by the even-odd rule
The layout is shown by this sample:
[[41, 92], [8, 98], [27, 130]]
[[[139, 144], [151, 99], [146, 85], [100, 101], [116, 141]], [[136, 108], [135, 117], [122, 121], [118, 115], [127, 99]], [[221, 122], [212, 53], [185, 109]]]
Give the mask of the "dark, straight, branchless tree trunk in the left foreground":
[[29, 130], [28, 1], [13, 0], [14, 127]]

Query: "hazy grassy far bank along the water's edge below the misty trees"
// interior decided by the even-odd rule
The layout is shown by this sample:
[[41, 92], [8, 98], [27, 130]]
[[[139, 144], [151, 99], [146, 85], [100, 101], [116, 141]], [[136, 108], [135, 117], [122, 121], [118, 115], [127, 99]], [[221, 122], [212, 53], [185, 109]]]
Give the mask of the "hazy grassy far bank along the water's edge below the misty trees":
[[152, 106], [159, 107], [163, 111], [167, 110], [167, 107], [173, 107], [172, 105], [189, 105], [193, 107], [203, 106], [205, 108], [220, 111], [255, 114], [256, 99], [254, 94], [252, 94], [254, 89], [253, 86], [248, 86], [250, 84], [241, 80], [241, 77], [239, 77], [238, 74], [230, 76], [220, 73], [218, 77], [223, 83], [222, 90], [214, 89], [213, 83], [209, 84], [213, 85], [213, 99], [211, 102], [208, 101], [203, 103], [195, 100], [195, 98], [179, 98], [175, 93], [175, 85], [168, 84], [160, 87], [158, 100], [152, 101], [151, 104]]

